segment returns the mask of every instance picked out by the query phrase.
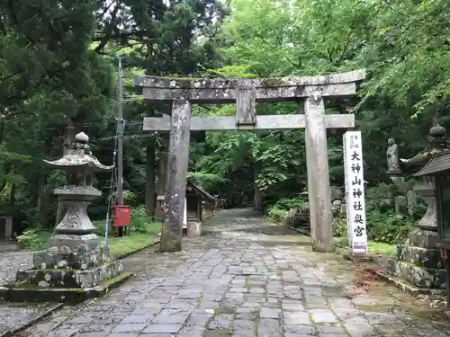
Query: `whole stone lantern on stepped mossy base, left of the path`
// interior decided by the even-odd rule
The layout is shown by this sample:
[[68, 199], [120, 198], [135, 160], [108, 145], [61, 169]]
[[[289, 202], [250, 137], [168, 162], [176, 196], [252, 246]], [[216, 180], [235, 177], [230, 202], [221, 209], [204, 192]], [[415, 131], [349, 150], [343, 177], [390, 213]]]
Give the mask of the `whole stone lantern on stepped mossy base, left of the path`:
[[67, 205], [55, 227], [48, 249], [33, 253], [31, 270], [18, 271], [15, 282], [0, 287], [0, 298], [12, 301], [79, 301], [103, 295], [112, 285], [130, 277], [121, 260], [101, 248], [87, 207], [102, 192], [94, 188], [94, 172], [107, 172], [91, 154], [89, 138], [81, 132], [66, 155], [45, 162], [68, 173], [69, 184], [55, 189]]

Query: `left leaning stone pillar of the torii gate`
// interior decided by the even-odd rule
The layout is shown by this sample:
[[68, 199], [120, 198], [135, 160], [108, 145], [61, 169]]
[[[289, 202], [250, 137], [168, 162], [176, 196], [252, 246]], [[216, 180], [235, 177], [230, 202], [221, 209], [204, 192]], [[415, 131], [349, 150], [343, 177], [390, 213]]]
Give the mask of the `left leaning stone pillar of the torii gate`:
[[176, 99], [172, 105], [169, 152], [167, 155], [165, 215], [161, 231], [161, 252], [181, 251], [184, 202], [186, 194], [187, 165], [191, 103]]

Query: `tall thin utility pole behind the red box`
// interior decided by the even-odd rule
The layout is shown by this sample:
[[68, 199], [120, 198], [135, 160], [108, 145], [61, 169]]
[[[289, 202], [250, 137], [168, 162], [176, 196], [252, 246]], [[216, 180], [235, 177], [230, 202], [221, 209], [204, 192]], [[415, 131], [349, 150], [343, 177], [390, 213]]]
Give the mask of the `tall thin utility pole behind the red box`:
[[117, 88], [117, 204], [123, 205], [123, 69], [119, 57], [119, 83]]

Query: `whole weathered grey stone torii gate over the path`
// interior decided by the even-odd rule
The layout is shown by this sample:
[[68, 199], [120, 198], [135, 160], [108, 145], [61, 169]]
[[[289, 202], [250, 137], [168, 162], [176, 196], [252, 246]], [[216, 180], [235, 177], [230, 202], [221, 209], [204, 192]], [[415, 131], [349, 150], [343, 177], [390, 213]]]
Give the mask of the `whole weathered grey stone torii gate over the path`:
[[[364, 70], [335, 75], [277, 79], [135, 78], [144, 100], [171, 102], [172, 114], [144, 118], [144, 131], [170, 131], [166, 194], [160, 250], [181, 250], [190, 131], [306, 129], [306, 159], [312, 250], [331, 252], [333, 229], [327, 129], [355, 127], [353, 114], [326, 115], [324, 97], [356, 93]], [[257, 116], [256, 102], [304, 102], [304, 114]], [[234, 117], [191, 117], [192, 103], [236, 103]]]

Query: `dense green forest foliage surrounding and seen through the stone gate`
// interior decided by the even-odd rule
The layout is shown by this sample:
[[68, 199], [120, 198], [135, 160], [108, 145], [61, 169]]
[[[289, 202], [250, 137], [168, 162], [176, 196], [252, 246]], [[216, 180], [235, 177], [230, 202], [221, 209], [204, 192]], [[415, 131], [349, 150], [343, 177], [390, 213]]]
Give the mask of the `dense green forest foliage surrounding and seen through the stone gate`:
[[[143, 115], [168, 109], [141, 102], [129, 87], [133, 74], [272, 77], [365, 67], [359, 95], [328, 100], [326, 106], [328, 112], [356, 113], [364, 135], [365, 179], [372, 188], [389, 181], [388, 137], [394, 136], [401, 157], [409, 158], [424, 148], [432, 116], [450, 127], [446, 0], [26, 0], [3, 1], [0, 15], [0, 202], [14, 213], [18, 232], [54, 226], [57, 202], [51, 191], [66, 177], [50, 172], [42, 159], [61, 155], [69, 120], [91, 137], [101, 162], [112, 162], [118, 56], [127, 85], [124, 177], [132, 206], [152, 203], [148, 167], [157, 167], [161, 148], [158, 136], [128, 136], [140, 132]], [[301, 110], [300, 103], [257, 105], [258, 114]], [[233, 113], [232, 105], [193, 109], [194, 115]], [[191, 138], [191, 179], [220, 195], [226, 207], [252, 202], [255, 190], [272, 212], [302, 205], [302, 130]], [[340, 131], [330, 131], [328, 142], [331, 181], [342, 186]], [[405, 173], [407, 179], [413, 171]], [[105, 197], [109, 179], [97, 176]], [[377, 202], [370, 195], [368, 200]], [[391, 211], [374, 206], [368, 216], [386, 225], [371, 229], [386, 242], [403, 237], [402, 230], [390, 228], [409, 226], [390, 217]], [[105, 212], [104, 198], [91, 208], [98, 220]]]

